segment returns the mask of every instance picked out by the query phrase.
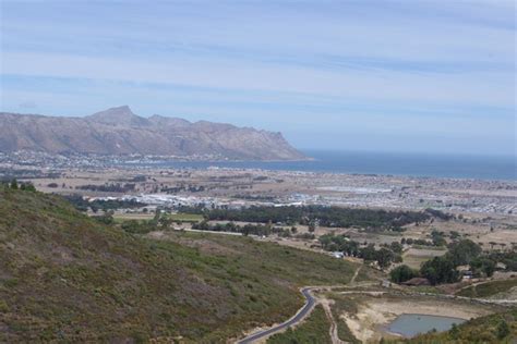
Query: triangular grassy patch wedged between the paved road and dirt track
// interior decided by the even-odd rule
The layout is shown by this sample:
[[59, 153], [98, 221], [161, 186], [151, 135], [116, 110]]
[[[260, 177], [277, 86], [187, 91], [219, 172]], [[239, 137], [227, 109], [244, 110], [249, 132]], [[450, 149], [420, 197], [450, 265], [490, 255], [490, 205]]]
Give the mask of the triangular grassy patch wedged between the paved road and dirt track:
[[330, 323], [322, 306], [316, 306], [311, 316], [294, 330], [287, 329], [282, 333], [275, 334], [267, 340], [267, 344], [325, 344], [332, 343], [328, 333]]

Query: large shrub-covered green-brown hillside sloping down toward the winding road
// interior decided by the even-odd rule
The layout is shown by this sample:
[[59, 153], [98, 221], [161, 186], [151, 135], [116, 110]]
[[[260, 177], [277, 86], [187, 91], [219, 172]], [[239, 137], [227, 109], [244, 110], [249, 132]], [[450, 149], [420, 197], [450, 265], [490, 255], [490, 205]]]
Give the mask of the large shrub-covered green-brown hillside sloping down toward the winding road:
[[247, 237], [171, 235], [139, 237], [58, 196], [0, 187], [0, 342], [219, 342], [290, 317], [299, 286], [353, 272]]

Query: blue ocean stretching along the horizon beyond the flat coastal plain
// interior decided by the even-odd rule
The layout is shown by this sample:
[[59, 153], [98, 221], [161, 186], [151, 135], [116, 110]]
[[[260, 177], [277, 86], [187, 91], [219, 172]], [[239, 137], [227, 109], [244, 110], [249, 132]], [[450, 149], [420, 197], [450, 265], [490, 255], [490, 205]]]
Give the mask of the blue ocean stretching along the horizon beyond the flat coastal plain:
[[313, 161], [167, 161], [154, 165], [516, 181], [515, 157], [304, 150]]

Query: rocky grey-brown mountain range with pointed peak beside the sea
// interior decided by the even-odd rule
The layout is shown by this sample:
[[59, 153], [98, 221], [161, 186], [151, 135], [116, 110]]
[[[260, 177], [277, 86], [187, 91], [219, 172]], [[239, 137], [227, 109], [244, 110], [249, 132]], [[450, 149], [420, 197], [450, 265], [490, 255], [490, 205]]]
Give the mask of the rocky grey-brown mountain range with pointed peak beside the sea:
[[280, 133], [154, 114], [128, 106], [84, 118], [0, 113], [0, 151], [303, 160]]

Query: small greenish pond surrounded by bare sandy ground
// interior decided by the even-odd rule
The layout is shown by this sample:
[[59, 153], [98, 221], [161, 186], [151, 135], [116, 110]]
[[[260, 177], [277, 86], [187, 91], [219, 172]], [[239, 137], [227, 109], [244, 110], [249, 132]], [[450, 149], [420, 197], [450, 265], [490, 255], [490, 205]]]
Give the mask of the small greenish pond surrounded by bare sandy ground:
[[426, 333], [435, 329], [437, 332], [448, 331], [453, 323], [460, 324], [465, 319], [425, 316], [425, 315], [401, 315], [388, 325], [387, 330], [406, 337], [414, 336], [419, 333]]

